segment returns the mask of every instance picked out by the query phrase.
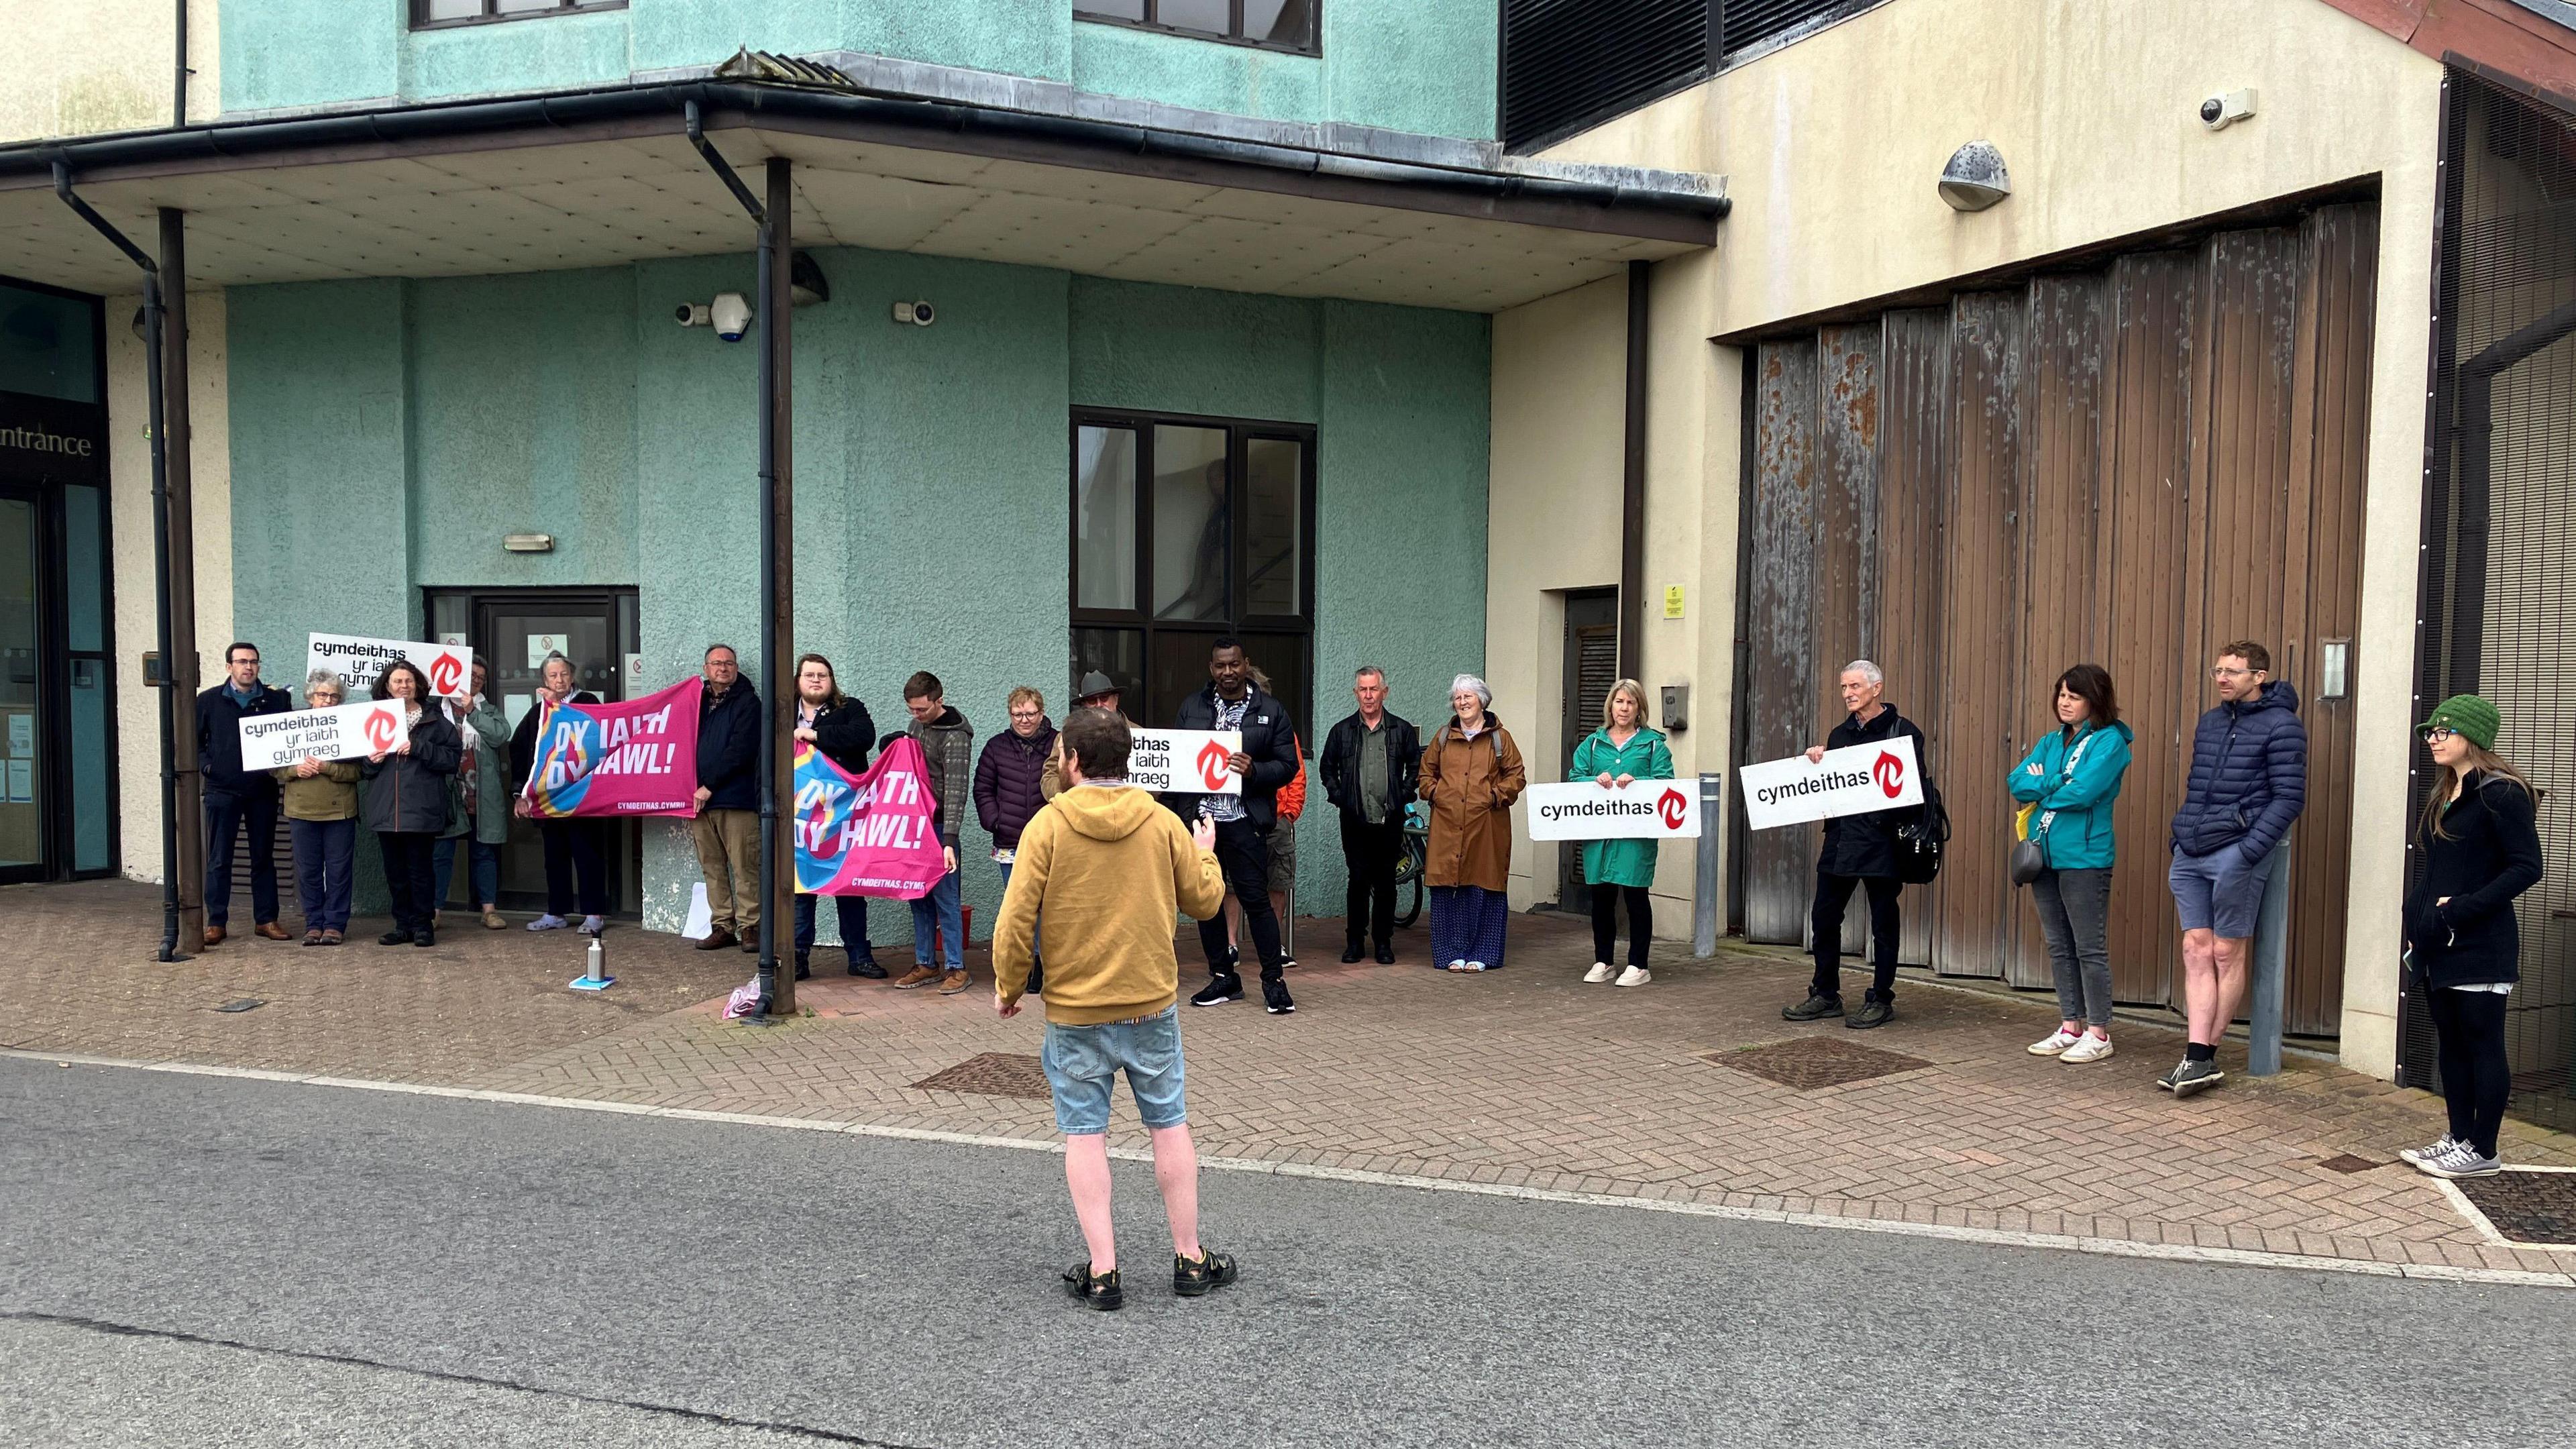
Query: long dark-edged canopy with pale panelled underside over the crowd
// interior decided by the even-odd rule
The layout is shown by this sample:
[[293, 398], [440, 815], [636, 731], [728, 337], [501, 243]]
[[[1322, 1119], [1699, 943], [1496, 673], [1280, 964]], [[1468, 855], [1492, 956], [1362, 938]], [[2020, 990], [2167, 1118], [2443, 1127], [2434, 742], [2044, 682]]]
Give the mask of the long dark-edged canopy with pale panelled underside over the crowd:
[[[1628, 260], [1705, 248], [1723, 214], [1721, 196], [1700, 199], [1698, 214], [1690, 199], [1669, 196], [1625, 199], [1625, 209], [1615, 196], [1538, 188], [1497, 199], [1448, 188], [1492, 180], [1484, 175], [1417, 168], [1425, 186], [1422, 175], [1386, 175], [1396, 168], [1334, 173], [1329, 157], [1291, 173], [1275, 160], [1121, 155], [1090, 139], [956, 124], [904, 134], [796, 101], [806, 111], [762, 95], [773, 108], [716, 113], [708, 131], [737, 168], [796, 162], [799, 248], [1494, 312], [1613, 276]], [[719, 129], [726, 121], [732, 129]], [[160, 206], [183, 209], [198, 286], [528, 273], [742, 250], [742, 217], [680, 134], [677, 101], [667, 113], [629, 106], [569, 126], [546, 119], [435, 139], [386, 126], [361, 144], [240, 144], [255, 131], [0, 150], [0, 273], [82, 291], [134, 284], [36, 175], [31, 162], [52, 155], [67, 155], [82, 196], [129, 229]], [[152, 142], [167, 144], [155, 152]]]

